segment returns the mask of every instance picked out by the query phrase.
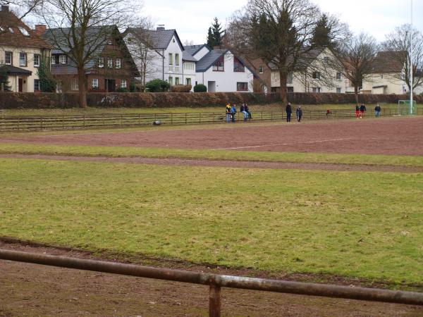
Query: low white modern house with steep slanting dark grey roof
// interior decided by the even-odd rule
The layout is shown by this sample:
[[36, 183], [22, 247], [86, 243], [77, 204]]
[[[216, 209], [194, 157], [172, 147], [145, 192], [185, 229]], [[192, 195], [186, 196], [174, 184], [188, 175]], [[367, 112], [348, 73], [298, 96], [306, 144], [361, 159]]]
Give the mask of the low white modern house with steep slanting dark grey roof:
[[206, 44], [185, 46], [197, 59], [195, 85], [202, 84], [207, 92], [253, 92], [257, 75], [231, 49], [210, 49]]

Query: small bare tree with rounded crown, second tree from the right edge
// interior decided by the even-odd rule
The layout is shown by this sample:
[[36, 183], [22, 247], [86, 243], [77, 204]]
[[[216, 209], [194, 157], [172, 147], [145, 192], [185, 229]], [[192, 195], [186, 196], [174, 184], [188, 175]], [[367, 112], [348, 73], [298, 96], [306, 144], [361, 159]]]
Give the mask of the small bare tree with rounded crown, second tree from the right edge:
[[358, 90], [362, 82], [372, 75], [374, 59], [378, 52], [374, 37], [360, 33], [341, 43], [331, 67], [350, 80], [354, 87], [355, 101], [358, 104]]

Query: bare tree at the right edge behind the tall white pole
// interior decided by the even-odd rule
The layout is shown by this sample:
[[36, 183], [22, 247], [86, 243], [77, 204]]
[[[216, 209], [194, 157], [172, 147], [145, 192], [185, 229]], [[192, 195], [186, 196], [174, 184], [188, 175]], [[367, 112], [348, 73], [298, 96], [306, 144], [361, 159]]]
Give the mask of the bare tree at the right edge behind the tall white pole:
[[[400, 63], [403, 71], [393, 73], [392, 77], [405, 82], [411, 92], [410, 75], [413, 77], [412, 88], [423, 87], [423, 35], [410, 24], [396, 27], [395, 31], [386, 36], [382, 44], [385, 51], [391, 51], [392, 64]], [[412, 54], [411, 54], [412, 53]], [[412, 58], [412, 61], [411, 61]]]

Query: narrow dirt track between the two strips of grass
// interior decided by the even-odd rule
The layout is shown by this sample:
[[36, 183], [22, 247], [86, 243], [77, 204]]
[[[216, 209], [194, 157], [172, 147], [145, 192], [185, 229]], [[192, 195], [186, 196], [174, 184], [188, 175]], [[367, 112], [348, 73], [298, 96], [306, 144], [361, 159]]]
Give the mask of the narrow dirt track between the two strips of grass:
[[154, 164], [163, 166], [211, 166], [228, 168], [269, 168], [269, 169], [297, 169], [297, 170], [338, 170], [338, 171], [364, 171], [388, 173], [423, 173], [423, 167], [408, 166], [369, 166], [323, 163], [280, 163], [257, 161], [211, 161], [189, 159], [148, 159], [142, 157], [90, 157], [90, 156], [54, 156], [54, 155], [24, 155], [0, 154], [0, 159], [39, 159], [53, 161], [88, 161], [101, 163], [131, 163]]

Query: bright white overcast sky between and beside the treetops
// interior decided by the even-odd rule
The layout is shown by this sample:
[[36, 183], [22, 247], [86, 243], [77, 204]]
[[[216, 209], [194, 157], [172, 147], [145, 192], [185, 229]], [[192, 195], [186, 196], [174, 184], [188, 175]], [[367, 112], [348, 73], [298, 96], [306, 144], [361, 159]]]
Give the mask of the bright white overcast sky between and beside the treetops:
[[[149, 15], [166, 29], [176, 29], [182, 42], [206, 42], [207, 30], [216, 16], [226, 24], [247, 0], [144, 0], [142, 15]], [[410, 23], [410, 0], [315, 0], [322, 11], [333, 13], [353, 32], [368, 32], [379, 41], [397, 25]], [[423, 32], [423, 1], [413, 0], [414, 22]]]

